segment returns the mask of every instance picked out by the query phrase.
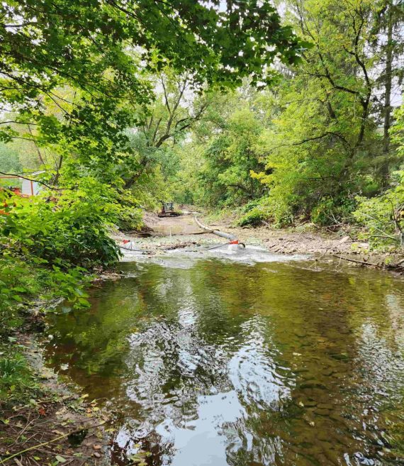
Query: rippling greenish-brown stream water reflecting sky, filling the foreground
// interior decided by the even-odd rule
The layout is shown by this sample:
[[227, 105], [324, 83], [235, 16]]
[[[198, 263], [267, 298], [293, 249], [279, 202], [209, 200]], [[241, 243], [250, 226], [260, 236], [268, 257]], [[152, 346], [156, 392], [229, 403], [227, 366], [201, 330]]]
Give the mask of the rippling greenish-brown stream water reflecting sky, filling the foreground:
[[313, 262], [126, 262], [48, 318], [47, 363], [116, 414], [113, 461], [404, 464], [404, 283]]

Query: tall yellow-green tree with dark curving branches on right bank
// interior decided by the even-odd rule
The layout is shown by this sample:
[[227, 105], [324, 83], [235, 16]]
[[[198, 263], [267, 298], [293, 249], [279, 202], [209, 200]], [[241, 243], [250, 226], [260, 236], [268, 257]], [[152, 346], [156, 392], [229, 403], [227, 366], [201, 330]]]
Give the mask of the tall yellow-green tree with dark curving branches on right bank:
[[279, 223], [311, 218], [339, 223], [354, 208], [354, 194], [380, 189], [378, 74], [371, 52], [374, 1], [291, 0], [289, 21], [313, 48], [284, 75], [280, 109], [262, 136], [267, 173], [254, 175], [271, 192]]

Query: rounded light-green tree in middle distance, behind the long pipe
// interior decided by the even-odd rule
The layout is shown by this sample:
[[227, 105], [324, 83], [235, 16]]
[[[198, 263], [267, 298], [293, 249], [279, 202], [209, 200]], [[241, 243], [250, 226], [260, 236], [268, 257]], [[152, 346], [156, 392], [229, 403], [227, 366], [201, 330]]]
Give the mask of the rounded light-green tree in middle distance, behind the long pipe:
[[265, 187], [250, 176], [251, 170], [264, 170], [256, 150], [262, 131], [259, 110], [237, 94], [216, 96], [196, 128], [195, 142], [182, 148], [185, 160], [179, 177], [184, 189], [193, 192], [193, 201], [218, 209], [262, 196]]

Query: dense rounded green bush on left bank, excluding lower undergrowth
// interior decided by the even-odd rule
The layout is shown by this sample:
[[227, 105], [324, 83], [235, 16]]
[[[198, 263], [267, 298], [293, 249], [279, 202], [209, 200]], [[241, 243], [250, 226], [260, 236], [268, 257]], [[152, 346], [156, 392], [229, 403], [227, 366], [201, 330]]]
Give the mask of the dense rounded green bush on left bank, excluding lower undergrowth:
[[[11, 198], [8, 215], [0, 217], [0, 233], [9, 250], [36, 257], [50, 266], [108, 266], [118, 258], [106, 221], [115, 218], [112, 194], [91, 179], [58, 198]], [[11, 202], [9, 201], [9, 202]], [[45, 261], [45, 262], [44, 262]]]

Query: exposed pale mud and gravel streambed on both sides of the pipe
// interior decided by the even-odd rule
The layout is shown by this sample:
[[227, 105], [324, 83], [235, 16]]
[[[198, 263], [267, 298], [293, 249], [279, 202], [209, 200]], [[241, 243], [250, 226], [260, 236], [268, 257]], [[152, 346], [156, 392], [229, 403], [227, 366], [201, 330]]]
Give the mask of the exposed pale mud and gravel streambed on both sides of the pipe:
[[[231, 219], [211, 221], [208, 216], [201, 215], [206, 225], [235, 235], [242, 243], [259, 245], [277, 254], [304, 254], [315, 259], [322, 256], [337, 256], [340, 260], [349, 259], [357, 265], [374, 265], [375, 267], [391, 268], [398, 272], [404, 270], [403, 253], [380, 253], [371, 250], [369, 243], [355, 238], [355, 233], [350, 231], [330, 232], [311, 228], [310, 231], [303, 227], [294, 229], [272, 229], [268, 226], [256, 228], [241, 228], [232, 226]], [[147, 212], [144, 217], [150, 238], [144, 240], [139, 235], [120, 233], [116, 240], [124, 238], [134, 240], [142, 247], [147, 245], [150, 253], [158, 250], [201, 245], [202, 243], [223, 243], [211, 233], [203, 232], [196, 226], [193, 215], [188, 214], [179, 217], [159, 218], [157, 214]], [[341, 259], [342, 257], [342, 259]], [[357, 261], [357, 262], [355, 262]], [[403, 267], [402, 267], [403, 266]]]

